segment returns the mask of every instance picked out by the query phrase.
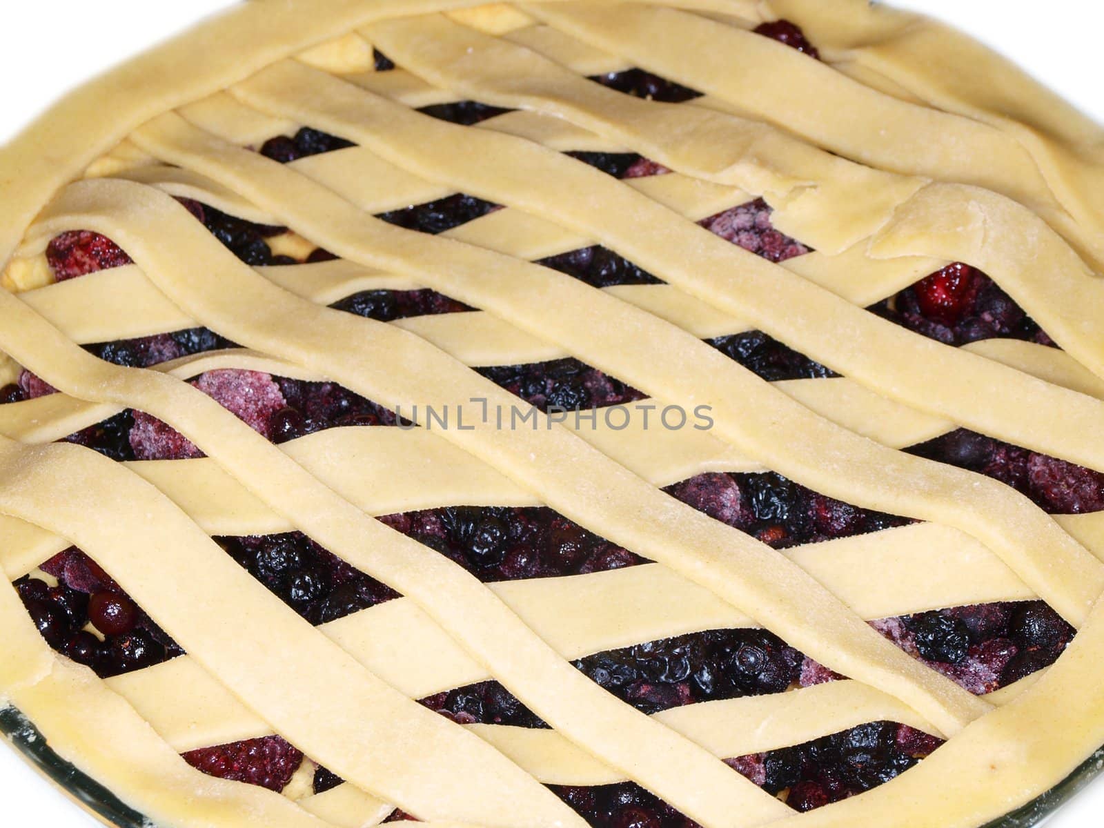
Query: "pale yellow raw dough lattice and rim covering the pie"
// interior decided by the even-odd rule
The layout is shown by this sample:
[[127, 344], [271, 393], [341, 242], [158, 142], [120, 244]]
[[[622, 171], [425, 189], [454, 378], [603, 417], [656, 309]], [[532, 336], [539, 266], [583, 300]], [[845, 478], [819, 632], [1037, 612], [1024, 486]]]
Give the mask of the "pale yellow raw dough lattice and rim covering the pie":
[[[749, 31], [779, 17], [825, 62]], [[402, 68], [376, 72], [373, 47]], [[630, 66], [707, 94], [668, 105], [584, 79]], [[476, 128], [413, 112], [466, 98], [514, 112]], [[253, 151], [304, 125], [359, 146], [286, 167]], [[0, 585], [0, 699], [181, 828], [360, 828], [395, 806], [443, 827], [581, 826], [544, 785], [625, 779], [705, 828], [999, 817], [1104, 743], [1104, 519], [1050, 518], [900, 449], [968, 427], [1104, 471], [1101, 146], [1002, 60], [861, 0], [254, 0], [204, 23], [0, 149], [2, 378], [25, 367], [61, 391], [0, 406], [0, 566], [15, 578], [76, 544], [189, 655], [102, 681]], [[565, 150], [672, 172], [615, 181]], [[372, 219], [460, 191], [505, 209], [436, 238]], [[170, 197], [286, 225], [279, 253], [341, 258], [250, 268]], [[817, 252], [773, 265], [696, 225], [756, 197]], [[46, 245], [77, 229], [135, 264], [54, 284]], [[530, 264], [592, 244], [667, 284], [595, 290]], [[1063, 350], [956, 350], [862, 310], [954, 261]], [[382, 325], [325, 307], [373, 288], [478, 310]], [[244, 348], [135, 371], [78, 347], [198, 325]], [[700, 341], [752, 329], [842, 376], [766, 383]], [[277, 447], [184, 382], [257, 370], [474, 412], [473, 397], [516, 400], [470, 368], [569, 355], [643, 404], [708, 404], [715, 427], [339, 428]], [[112, 464], [55, 444], [124, 408], [206, 457]], [[661, 491], [767, 469], [925, 522], [775, 552]], [[550, 506], [655, 563], [484, 585], [373, 520], [461, 503]], [[210, 539], [291, 530], [404, 597], [311, 628]], [[866, 624], [1039, 597], [1078, 627], [1073, 644], [985, 699]], [[744, 626], [850, 680], [647, 716], [569, 662]], [[412, 701], [490, 678], [552, 729], [461, 726]], [[810, 814], [720, 761], [882, 720], [949, 741]], [[177, 755], [272, 733], [348, 783], [307, 795], [308, 763], [282, 797]]]

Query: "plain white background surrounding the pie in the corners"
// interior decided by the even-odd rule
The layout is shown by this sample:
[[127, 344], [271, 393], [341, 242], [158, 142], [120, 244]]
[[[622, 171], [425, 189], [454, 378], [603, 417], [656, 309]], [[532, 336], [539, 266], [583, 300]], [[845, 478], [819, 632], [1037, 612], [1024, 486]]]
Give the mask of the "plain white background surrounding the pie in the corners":
[[[226, 0], [6, 0], [0, 141], [74, 84], [230, 4]], [[1094, 0], [1050, 0], [1042, 6], [1037, 0], [896, 0], [896, 4], [965, 29], [1104, 121], [1096, 49], [1104, 8]], [[1104, 779], [1047, 826], [1096, 828], [1101, 813]], [[0, 747], [0, 825], [87, 828], [98, 822]]]

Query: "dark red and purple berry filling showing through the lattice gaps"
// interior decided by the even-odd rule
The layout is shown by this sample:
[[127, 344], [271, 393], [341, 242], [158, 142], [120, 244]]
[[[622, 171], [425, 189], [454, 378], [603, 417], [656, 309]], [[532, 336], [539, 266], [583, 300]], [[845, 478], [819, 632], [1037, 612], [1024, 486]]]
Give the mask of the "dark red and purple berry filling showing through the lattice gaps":
[[[787, 21], [755, 30], [818, 57], [804, 33]], [[375, 54], [378, 71], [394, 68]], [[643, 70], [591, 78], [624, 94], [679, 103], [699, 93]], [[421, 112], [474, 125], [509, 112], [463, 100]], [[311, 128], [265, 142], [261, 152], [289, 162], [353, 146]], [[667, 169], [635, 153], [572, 152], [617, 178], [662, 174]], [[251, 265], [293, 264], [266, 240], [284, 232], [182, 200], [238, 258]], [[402, 227], [440, 233], [486, 215], [498, 205], [466, 194], [384, 213]], [[700, 224], [772, 262], [809, 252], [775, 230], [771, 208], [756, 200]], [[47, 261], [59, 282], [130, 263], [110, 240], [87, 231], [53, 240]], [[332, 258], [316, 251], [308, 261]], [[604, 247], [552, 256], [540, 264], [595, 287], [660, 284], [655, 276]], [[369, 290], [333, 307], [380, 321], [470, 310], [433, 290]], [[1050, 343], [1049, 338], [999, 287], [965, 265], [951, 265], [872, 308], [912, 330], [951, 344], [989, 337]], [[825, 367], [751, 331], [710, 341], [764, 379], [834, 375]], [[233, 342], [204, 328], [87, 346], [115, 364], [149, 367]], [[541, 408], [586, 408], [633, 402], [641, 394], [574, 359], [480, 369], [488, 379]], [[258, 433], [283, 442], [340, 425], [393, 425], [393, 413], [333, 383], [310, 383], [250, 371], [212, 371], [193, 384]], [[23, 372], [18, 385], [0, 389], [0, 402], [33, 399], [53, 389]], [[66, 438], [117, 459], [201, 456], [166, 424], [142, 412], [123, 412]], [[1023, 491], [1052, 512], [1104, 509], [1104, 475], [966, 431], [914, 447], [914, 453], [970, 468]], [[879, 531], [906, 519], [863, 510], [810, 491], [775, 474], [708, 474], [668, 488], [700, 511], [775, 549]], [[381, 518], [474, 573], [485, 583], [562, 576], [631, 566], [645, 560], [545, 508], [452, 507]], [[220, 538], [217, 542], [269, 591], [312, 624], [325, 624], [397, 597], [300, 533]], [[157, 625], [91, 559], [75, 549], [42, 567], [59, 581], [23, 577], [21, 599], [46, 641], [60, 652], [116, 676], [182, 654]], [[93, 627], [93, 633], [88, 627]], [[1074, 630], [1042, 602], [954, 607], [872, 622], [910, 655], [975, 693], [989, 692], [1052, 664]], [[783, 692], [840, 678], [771, 633], [710, 630], [649, 641], [578, 659], [574, 666], [626, 703], [655, 713], [701, 701]], [[459, 723], [546, 726], [496, 681], [484, 681], [422, 700]], [[803, 745], [729, 760], [729, 764], [799, 811], [870, 789], [914, 765], [940, 740], [889, 722], [863, 724]], [[184, 754], [200, 771], [224, 779], [282, 790], [304, 756], [278, 736], [247, 740]], [[319, 767], [315, 792], [341, 779]], [[553, 790], [595, 826], [689, 828], [693, 824], [631, 783]], [[408, 818], [397, 813], [388, 821]]]

